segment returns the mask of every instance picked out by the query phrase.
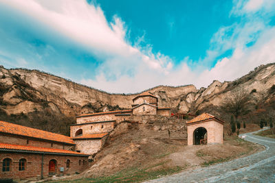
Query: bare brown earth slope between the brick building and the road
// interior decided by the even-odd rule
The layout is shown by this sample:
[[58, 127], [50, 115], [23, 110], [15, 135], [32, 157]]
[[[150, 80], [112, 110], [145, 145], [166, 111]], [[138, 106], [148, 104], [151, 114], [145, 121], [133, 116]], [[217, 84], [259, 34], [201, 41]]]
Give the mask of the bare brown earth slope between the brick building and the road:
[[[247, 124], [247, 128], [240, 131], [251, 132], [257, 128], [254, 124]], [[261, 145], [242, 141], [235, 134], [225, 136], [223, 145], [187, 146], [184, 132], [172, 132], [169, 138], [166, 130], [154, 131], [147, 125], [136, 123], [124, 123], [116, 129], [94, 158], [91, 168], [70, 180], [106, 178], [113, 175], [124, 177], [129, 173], [134, 176], [137, 170], [163, 175], [164, 171], [175, 173], [197, 169], [248, 156], [263, 149]], [[137, 181], [139, 180], [142, 178]]]

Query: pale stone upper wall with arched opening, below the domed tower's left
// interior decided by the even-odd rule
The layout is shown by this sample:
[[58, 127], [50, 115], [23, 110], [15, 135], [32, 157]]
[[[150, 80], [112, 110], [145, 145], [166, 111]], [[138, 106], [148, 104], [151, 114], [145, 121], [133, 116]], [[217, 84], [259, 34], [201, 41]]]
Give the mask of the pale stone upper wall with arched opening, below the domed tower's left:
[[115, 121], [107, 123], [89, 123], [81, 125], [72, 125], [71, 137], [75, 137], [75, 134], [79, 129], [83, 130], [83, 134], [100, 134], [110, 132], [111, 130], [113, 130], [114, 126]]

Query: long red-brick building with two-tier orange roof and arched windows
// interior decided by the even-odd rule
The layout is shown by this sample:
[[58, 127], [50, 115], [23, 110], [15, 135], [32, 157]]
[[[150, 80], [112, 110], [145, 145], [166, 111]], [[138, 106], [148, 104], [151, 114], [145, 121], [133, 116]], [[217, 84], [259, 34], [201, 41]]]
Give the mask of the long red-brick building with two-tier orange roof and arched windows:
[[0, 180], [81, 172], [89, 155], [69, 136], [0, 121]]

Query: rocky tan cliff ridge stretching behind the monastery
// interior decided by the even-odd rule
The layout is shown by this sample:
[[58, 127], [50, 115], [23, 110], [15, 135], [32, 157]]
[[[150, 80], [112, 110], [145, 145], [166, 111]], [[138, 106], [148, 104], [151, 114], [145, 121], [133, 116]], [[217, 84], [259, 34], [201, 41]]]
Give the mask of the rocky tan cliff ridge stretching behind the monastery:
[[[169, 107], [173, 112], [219, 115], [217, 108], [234, 90], [250, 94], [256, 106], [260, 101], [274, 99], [274, 84], [275, 64], [272, 63], [258, 66], [233, 82], [213, 81], [207, 88], [156, 86], [148, 91], [159, 97], [159, 106]], [[56, 129], [49, 124], [74, 123], [77, 114], [131, 108], [137, 95], [110, 94], [41, 71], [0, 67], [1, 120], [43, 130], [65, 133], [62, 126]]]

